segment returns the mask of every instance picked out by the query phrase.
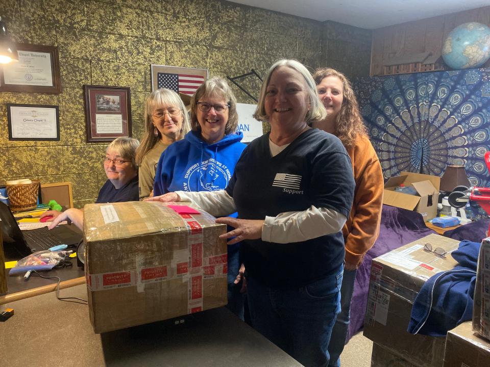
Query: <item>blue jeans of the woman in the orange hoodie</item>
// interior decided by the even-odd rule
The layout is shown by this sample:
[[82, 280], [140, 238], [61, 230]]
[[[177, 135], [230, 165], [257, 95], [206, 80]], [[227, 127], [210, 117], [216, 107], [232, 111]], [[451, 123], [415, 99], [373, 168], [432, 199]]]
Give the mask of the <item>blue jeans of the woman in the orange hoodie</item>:
[[344, 350], [347, 333], [349, 332], [351, 300], [356, 274], [357, 269], [344, 270], [344, 279], [342, 279], [342, 287], [340, 288], [341, 311], [337, 316], [337, 321], [335, 321], [330, 344], [328, 345], [328, 353], [330, 354], [329, 366], [340, 367], [340, 354]]

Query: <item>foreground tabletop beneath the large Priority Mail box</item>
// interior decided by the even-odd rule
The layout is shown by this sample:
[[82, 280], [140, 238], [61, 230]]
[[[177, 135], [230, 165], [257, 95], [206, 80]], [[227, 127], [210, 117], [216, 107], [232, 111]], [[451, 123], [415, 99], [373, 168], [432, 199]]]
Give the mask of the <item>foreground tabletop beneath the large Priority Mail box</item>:
[[[87, 299], [85, 285], [61, 297]], [[0, 365], [36, 366], [301, 366], [224, 307], [170, 321], [94, 334], [88, 306], [54, 293], [5, 307], [15, 314], [0, 324]]]

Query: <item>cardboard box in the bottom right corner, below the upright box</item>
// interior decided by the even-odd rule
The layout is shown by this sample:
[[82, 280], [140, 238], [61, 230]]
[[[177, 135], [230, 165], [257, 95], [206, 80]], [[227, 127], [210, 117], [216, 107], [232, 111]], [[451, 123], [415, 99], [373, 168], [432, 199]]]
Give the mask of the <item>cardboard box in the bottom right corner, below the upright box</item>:
[[475, 335], [471, 321], [464, 322], [448, 332], [444, 367], [488, 367], [490, 343]]

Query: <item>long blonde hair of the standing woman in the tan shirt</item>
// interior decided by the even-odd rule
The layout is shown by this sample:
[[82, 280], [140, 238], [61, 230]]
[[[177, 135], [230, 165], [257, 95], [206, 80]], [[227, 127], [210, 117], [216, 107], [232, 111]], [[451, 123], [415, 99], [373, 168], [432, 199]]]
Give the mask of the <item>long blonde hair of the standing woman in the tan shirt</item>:
[[136, 152], [136, 163], [141, 165], [144, 156], [148, 153], [155, 144], [162, 139], [161, 133], [157, 129], [157, 134], [154, 133], [155, 125], [153, 124], [153, 111], [160, 106], [177, 107], [182, 114], [182, 127], [177, 140], [184, 138], [190, 130], [189, 117], [185, 109], [185, 104], [180, 99], [179, 95], [173, 90], [161, 88], [154, 90], [144, 102], [144, 133], [141, 139], [141, 145]]

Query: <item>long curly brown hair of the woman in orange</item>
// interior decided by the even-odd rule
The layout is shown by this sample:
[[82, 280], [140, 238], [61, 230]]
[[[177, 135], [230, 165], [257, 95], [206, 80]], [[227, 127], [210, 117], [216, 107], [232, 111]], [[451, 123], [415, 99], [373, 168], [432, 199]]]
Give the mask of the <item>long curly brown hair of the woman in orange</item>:
[[367, 136], [367, 129], [359, 113], [359, 105], [348, 78], [335, 69], [322, 67], [315, 70], [313, 79], [318, 85], [327, 76], [338, 77], [344, 87], [344, 100], [335, 118], [335, 135], [345, 147], [350, 147], [354, 144], [358, 135]]

